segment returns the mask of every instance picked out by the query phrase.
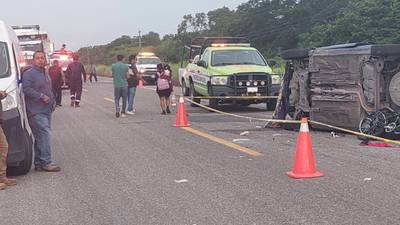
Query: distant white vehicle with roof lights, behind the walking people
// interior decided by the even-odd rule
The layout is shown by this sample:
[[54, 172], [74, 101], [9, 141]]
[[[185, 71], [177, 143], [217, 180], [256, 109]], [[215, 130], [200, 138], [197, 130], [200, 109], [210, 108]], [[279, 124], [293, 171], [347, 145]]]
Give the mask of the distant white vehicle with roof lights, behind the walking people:
[[156, 82], [157, 65], [161, 63], [152, 52], [142, 52], [137, 55], [136, 67], [147, 84]]

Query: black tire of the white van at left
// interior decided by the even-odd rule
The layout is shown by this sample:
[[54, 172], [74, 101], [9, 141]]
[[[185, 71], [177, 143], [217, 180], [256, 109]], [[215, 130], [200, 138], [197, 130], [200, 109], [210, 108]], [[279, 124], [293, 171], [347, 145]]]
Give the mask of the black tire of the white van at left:
[[23, 141], [25, 146], [25, 159], [20, 163], [19, 166], [9, 167], [7, 169], [7, 173], [9, 175], [25, 175], [31, 170], [33, 159], [33, 140], [27, 131], [25, 131], [25, 137]]

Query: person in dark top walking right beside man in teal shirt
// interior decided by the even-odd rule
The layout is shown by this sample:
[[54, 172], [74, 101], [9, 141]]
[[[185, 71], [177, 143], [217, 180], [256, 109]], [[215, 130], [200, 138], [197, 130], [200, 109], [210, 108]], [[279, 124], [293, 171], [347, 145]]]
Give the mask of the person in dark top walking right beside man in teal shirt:
[[139, 82], [139, 71], [136, 67], [136, 55], [129, 56], [129, 72], [128, 72], [128, 111], [126, 114], [134, 115], [135, 109], [133, 108], [136, 86]]

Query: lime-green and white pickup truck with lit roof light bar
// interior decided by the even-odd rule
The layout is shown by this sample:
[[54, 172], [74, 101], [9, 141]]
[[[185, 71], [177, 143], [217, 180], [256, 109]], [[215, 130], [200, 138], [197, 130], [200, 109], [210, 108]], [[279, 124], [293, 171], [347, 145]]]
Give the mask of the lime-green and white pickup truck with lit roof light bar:
[[278, 95], [280, 76], [273, 74], [248, 39], [202, 37], [185, 48], [189, 50], [189, 64], [179, 69], [179, 82], [182, 92], [193, 101], [209, 98], [212, 108], [223, 103], [266, 103], [268, 110], [275, 108], [276, 99], [263, 97]]

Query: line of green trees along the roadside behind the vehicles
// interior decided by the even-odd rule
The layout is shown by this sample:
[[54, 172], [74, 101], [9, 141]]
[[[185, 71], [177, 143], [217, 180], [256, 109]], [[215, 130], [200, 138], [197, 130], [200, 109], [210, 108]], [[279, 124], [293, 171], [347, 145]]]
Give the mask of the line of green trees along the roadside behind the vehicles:
[[[178, 62], [182, 48], [198, 36], [241, 36], [266, 57], [281, 50], [350, 42], [399, 43], [400, 0], [249, 0], [183, 16], [175, 34], [142, 37], [142, 50]], [[122, 36], [107, 45], [82, 48], [83, 60], [110, 64], [116, 54], [139, 51], [138, 37]], [[86, 56], [86, 57], [85, 57]]]

